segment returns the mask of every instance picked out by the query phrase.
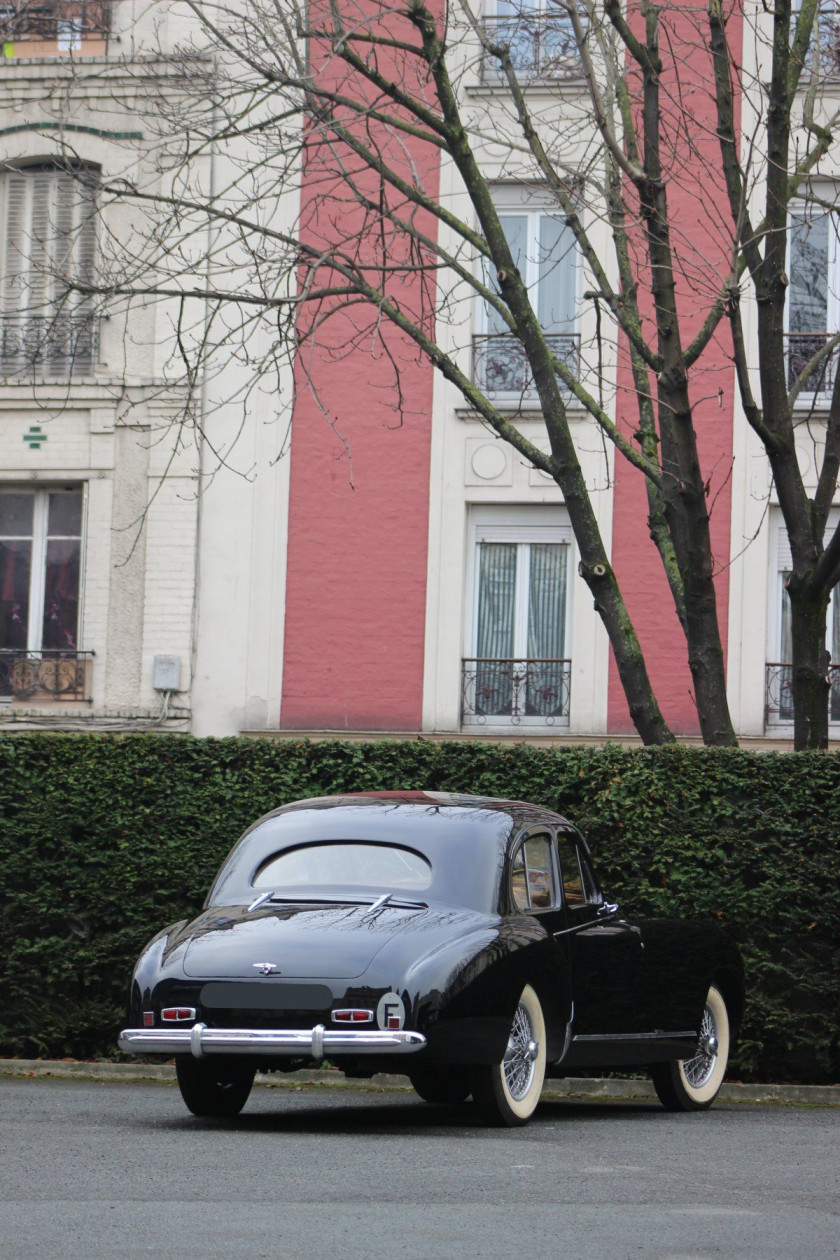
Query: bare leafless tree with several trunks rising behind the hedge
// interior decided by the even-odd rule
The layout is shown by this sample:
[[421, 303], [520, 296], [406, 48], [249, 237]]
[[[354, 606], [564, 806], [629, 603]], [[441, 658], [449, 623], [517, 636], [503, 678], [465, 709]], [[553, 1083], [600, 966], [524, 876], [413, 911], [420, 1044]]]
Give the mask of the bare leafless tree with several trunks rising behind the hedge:
[[[146, 227], [106, 249], [99, 282], [79, 287], [111, 302], [174, 304], [190, 392], [220, 345], [253, 379], [293, 355], [298, 387], [316, 391], [312, 355], [361, 353], [373, 340], [393, 365], [399, 411], [400, 364], [411, 355], [431, 362], [494, 433], [563, 490], [581, 573], [650, 743], [671, 735], [598, 529], [569, 403], [583, 406], [646, 479], [650, 533], [685, 634], [703, 737], [733, 745], [709, 530], [713, 475], [696, 428], [704, 354], [723, 339], [791, 537], [796, 746], [825, 746], [826, 609], [840, 539], [824, 549], [822, 538], [840, 460], [837, 388], [812, 499], [796, 461], [793, 404], [840, 338], [824, 339], [795, 373], [785, 346], [790, 207], [809, 194], [834, 135], [821, 103], [824, 60], [809, 53], [821, 29], [816, 0], [796, 20], [790, 0], [776, 0], [769, 86], [759, 72], [744, 82], [729, 30], [749, 15], [727, 13], [718, 0], [699, 15], [646, 0], [627, 10], [606, 0], [603, 11], [593, 0], [562, 0], [540, 14], [511, 10], [495, 24], [470, 0], [446, 13], [424, 0], [242, 8], [188, 0], [186, 8], [195, 37], [167, 53], [166, 88], [137, 72], [146, 121], [160, 125], [149, 175], [106, 179], [99, 189], [101, 205], [142, 205]], [[749, 16], [757, 47], [763, 20]], [[494, 89], [491, 116], [468, 92], [479, 71]], [[564, 72], [582, 74], [583, 105], [552, 101]], [[685, 98], [688, 82], [704, 77], [713, 84], [705, 112]], [[748, 93], [753, 129], [738, 139], [734, 120]], [[489, 164], [491, 146], [504, 156]], [[227, 175], [209, 183], [219, 154]], [[442, 164], [457, 173], [455, 202], [438, 194]], [[597, 304], [593, 344], [572, 344], [536, 309], [494, 197], [504, 180], [544, 198], [572, 234]], [[699, 213], [715, 224], [714, 257], [699, 257], [674, 220], [671, 200], [686, 180], [699, 190]], [[288, 213], [298, 188], [300, 208]], [[758, 189], [766, 209], [756, 223]], [[751, 388], [756, 350], [742, 325], [749, 285], [761, 404]], [[496, 362], [472, 370], [465, 329], [476, 306], [496, 336]], [[273, 330], [267, 349], [257, 335], [266, 328]], [[622, 365], [639, 416], [633, 432], [616, 418]], [[539, 399], [548, 454], [500, 406], [494, 373]]]

